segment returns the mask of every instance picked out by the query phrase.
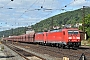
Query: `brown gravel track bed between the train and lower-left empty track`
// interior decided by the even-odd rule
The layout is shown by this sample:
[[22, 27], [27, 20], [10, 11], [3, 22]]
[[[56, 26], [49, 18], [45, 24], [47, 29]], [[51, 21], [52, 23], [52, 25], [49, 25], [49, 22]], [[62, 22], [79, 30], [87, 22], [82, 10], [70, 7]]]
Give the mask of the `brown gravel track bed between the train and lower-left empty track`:
[[82, 53], [84, 53], [87, 60], [90, 60], [90, 48], [79, 48], [77, 50], [73, 50], [25, 43], [14, 43], [14, 45], [57, 58], [68, 57], [70, 60], [79, 60]]

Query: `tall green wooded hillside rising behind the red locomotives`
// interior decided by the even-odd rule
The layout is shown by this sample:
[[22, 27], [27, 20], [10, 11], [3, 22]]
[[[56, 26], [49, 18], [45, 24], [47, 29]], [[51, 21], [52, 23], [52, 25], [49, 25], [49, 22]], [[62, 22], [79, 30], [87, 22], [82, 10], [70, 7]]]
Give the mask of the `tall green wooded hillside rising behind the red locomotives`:
[[[90, 14], [90, 8], [85, 8], [85, 16]], [[43, 31], [44, 29], [51, 29], [53, 26], [59, 26], [65, 24], [76, 24], [82, 23], [83, 10], [78, 9], [75, 11], [68, 11], [65, 13], [58, 14], [56, 16], [50, 17], [48, 19], [42, 20], [41, 22], [32, 26], [35, 31]]]

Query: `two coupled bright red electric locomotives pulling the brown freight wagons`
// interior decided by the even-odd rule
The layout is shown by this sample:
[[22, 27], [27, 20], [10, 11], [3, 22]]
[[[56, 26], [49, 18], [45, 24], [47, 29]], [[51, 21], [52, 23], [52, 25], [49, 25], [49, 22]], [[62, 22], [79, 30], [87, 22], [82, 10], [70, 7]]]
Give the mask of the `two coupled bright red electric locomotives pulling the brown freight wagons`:
[[36, 33], [35, 42], [58, 47], [79, 47], [81, 45], [79, 30], [74, 28]]

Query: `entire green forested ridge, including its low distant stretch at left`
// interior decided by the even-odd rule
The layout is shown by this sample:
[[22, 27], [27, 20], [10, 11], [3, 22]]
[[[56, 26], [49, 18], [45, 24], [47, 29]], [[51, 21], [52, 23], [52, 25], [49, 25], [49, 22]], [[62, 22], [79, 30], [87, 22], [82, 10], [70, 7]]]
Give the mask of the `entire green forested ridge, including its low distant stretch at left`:
[[[85, 16], [90, 14], [90, 8], [85, 8]], [[36, 31], [43, 31], [43, 30], [49, 30], [52, 29], [52, 26], [59, 26], [61, 28], [61, 25], [65, 24], [76, 24], [79, 22], [82, 22], [83, 19], [83, 10], [78, 9], [75, 11], [68, 11], [65, 13], [61, 13], [58, 15], [55, 15], [53, 17], [47, 18], [45, 20], [40, 21], [39, 23], [36, 23], [35, 25], [32, 25], [31, 27]], [[6, 30], [0, 32], [0, 37], [3, 35], [9, 36], [9, 35], [20, 35], [24, 34], [26, 31], [25, 27], [20, 27], [16, 29]]]

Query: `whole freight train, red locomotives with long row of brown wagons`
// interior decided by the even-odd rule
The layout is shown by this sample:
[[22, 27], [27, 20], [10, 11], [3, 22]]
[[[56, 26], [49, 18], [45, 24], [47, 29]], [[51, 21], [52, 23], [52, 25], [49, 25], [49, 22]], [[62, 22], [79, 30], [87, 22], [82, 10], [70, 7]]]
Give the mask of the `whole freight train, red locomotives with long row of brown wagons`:
[[6, 37], [6, 41], [39, 43], [57, 47], [79, 47], [81, 45], [80, 33], [76, 28], [64, 28], [52, 31], [29, 33], [19, 36]]

